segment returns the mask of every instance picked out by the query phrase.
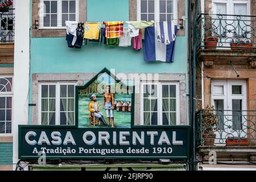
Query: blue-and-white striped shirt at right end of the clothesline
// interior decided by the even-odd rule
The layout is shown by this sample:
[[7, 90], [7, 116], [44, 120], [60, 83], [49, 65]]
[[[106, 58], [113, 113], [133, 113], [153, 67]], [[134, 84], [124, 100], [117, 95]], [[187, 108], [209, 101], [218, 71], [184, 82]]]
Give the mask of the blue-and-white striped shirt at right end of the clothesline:
[[171, 44], [175, 40], [175, 23], [172, 21], [166, 22], [155, 22], [155, 27], [157, 30], [157, 39], [166, 45]]

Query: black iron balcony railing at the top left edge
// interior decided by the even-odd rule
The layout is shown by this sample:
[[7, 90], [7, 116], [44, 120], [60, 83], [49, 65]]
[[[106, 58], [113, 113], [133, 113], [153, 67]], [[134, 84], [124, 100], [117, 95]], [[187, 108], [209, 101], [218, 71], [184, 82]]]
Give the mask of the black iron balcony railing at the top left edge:
[[15, 9], [9, 9], [9, 12], [0, 12], [0, 43], [14, 42], [15, 30]]

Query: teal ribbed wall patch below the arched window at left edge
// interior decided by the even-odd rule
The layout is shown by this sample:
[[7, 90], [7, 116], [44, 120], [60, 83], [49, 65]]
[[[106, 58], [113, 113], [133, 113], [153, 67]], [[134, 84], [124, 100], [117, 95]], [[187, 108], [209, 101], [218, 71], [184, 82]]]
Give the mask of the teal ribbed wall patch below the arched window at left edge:
[[0, 165], [13, 164], [13, 143], [0, 143]]

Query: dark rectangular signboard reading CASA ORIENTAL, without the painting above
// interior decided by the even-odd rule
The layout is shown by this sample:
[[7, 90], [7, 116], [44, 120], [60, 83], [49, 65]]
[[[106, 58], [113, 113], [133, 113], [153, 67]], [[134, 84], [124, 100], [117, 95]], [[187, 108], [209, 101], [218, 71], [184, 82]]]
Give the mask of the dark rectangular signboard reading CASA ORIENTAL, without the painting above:
[[67, 129], [19, 126], [19, 158], [187, 159], [189, 127]]

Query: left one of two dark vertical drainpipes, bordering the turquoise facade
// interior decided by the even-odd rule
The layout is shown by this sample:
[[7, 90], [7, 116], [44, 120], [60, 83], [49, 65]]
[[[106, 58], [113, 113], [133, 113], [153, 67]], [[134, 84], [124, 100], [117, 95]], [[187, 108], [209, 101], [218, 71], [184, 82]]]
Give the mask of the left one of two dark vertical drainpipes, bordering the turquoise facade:
[[[189, 125], [191, 126], [191, 136], [190, 138], [193, 138], [193, 128], [192, 128], [192, 38], [191, 38], [191, 0], [188, 0], [188, 63], [189, 63]], [[190, 156], [189, 161], [193, 161], [193, 144], [190, 142]], [[189, 165], [189, 171], [192, 170], [192, 165]]]

